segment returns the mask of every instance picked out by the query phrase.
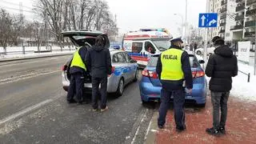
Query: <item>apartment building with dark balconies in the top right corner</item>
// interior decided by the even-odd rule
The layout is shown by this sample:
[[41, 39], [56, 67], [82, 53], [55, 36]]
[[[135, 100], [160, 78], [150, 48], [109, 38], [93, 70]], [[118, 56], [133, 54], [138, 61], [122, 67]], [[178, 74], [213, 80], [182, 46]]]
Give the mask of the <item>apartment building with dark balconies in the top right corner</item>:
[[255, 37], [256, 0], [236, 0], [236, 24], [231, 27], [233, 40], [253, 40]]

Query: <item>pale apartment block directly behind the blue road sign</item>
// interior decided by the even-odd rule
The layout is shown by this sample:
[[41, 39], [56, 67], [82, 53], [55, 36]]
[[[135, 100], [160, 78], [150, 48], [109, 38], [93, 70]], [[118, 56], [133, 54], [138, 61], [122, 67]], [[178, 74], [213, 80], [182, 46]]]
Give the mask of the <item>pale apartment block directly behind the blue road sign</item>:
[[210, 13], [218, 13], [218, 27], [208, 30], [208, 38], [218, 35], [225, 41], [232, 41], [233, 32], [231, 27], [235, 25], [235, 8], [234, 0], [210, 0]]

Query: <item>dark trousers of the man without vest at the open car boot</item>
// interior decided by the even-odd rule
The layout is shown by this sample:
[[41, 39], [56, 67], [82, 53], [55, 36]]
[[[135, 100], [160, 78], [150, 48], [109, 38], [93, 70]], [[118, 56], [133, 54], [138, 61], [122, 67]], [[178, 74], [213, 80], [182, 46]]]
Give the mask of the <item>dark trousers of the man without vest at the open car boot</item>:
[[[99, 85], [101, 88], [99, 89]], [[106, 86], [107, 77], [104, 78], [92, 78], [92, 106], [94, 109], [98, 109], [98, 97], [101, 98], [101, 109], [106, 108]]]

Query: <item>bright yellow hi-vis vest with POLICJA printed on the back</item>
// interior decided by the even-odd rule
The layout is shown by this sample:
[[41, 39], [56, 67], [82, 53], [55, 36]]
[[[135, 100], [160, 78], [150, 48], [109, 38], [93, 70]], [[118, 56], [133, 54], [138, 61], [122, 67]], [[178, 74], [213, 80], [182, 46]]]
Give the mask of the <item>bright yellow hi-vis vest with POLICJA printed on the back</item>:
[[182, 71], [182, 53], [183, 50], [174, 48], [162, 52], [162, 80], [178, 81], [184, 78]]

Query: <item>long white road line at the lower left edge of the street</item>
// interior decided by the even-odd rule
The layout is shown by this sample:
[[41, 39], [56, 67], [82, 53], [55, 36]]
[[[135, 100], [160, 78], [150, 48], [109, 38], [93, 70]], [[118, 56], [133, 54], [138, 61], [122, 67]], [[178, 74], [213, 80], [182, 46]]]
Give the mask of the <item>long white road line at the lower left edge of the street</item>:
[[53, 102], [53, 101], [54, 101], [53, 99], [47, 99], [46, 101], [40, 102], [40, 103], [38, 103], [34, 106], [30, 106], [30, 107], [26, 108], [25, 110], [21, 110], [18, 113], [12, 114], [9, 117], [2, 118], [0, 120], [0, 125], [2, 125], [3, 123], [9, 122], [11, 120], [14, 120], [15, 118], [18, 118], [18, 117], [20, 117], [20, 116], [22, 116], [22, 115], [24, 115], [24, 114], [26, 114], [26, 113], [28, 113], [32, 110], [38, 109], [39, 107], [44, 106], [47, 103]]

